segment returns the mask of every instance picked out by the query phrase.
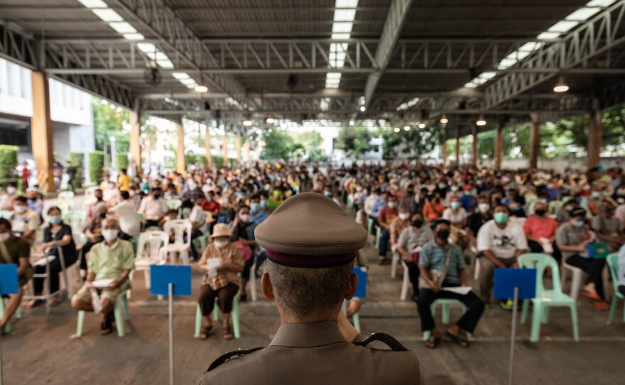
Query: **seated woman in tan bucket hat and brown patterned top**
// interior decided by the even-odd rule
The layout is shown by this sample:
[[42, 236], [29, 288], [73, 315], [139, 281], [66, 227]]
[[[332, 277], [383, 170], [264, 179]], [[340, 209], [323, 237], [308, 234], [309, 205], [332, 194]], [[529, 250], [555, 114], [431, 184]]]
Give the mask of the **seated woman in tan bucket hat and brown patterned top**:
[[[217, 298], [217, 305], [222, 310], [222, 327], [224, 329], [224, 339], [232, 340], [232, 325], [230, 322], [230, 312], [232, 312], [232, 302], [234, 296], [239, 291], [239, 276], [237, 273], [243, 271], [243, 256], [241, 250], [230, 243], [230, 231], [227, 224], [215, 224], [212, 242], [208, 245], [202, 258], [197, 263], [198, 269], [205, 271], [200, 287], [200, 303], [202, 318], [205, 326], [202, 327], [200, 339], [206, 340], [212, 330], [212, 320], [210, 315], [214, 308], [214, 301]], [[218, 258], [219, 266], [210, 267], [208, 259]]]

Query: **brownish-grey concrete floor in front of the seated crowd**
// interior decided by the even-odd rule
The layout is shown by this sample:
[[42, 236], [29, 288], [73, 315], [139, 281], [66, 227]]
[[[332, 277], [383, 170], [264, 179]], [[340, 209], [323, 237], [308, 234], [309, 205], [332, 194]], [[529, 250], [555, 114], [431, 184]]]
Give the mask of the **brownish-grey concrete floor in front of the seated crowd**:
[[[390, 277], [390, 266], [371, 261], [369, 298], [361, 311], [363, 333], [388, 332], [418, 355], [428, 385], [506, 384], [511, 313], [494, 303], [488, 308], [469, 349], [444, 341], [435, 350], [420, 340], [420, 322], [412, 301], [400, 302], [401, 278]], [[401, 268], [399, 269], [401, 271]], [[401, 276], [401, 274], [400, 274]], [[199, 276], [194, 276], [197, 291]], [[43, 308], [24, 310], [13, 322], [11, 335], [2, 337], [4, 380], [13, 384], [167, 384], [167, 301], [149, 295], [143, 274], [135, 276], [127, 335], [99, 335], [99, 316], [87, 315], [84, 334], [75, 332], [76, 313], [67, 300], [45, 315]], [[273, 303], [259, 300], [241, 305], [241, 340], [224, 341], [221, 330], [209, 340], [193, 338], [195, 293], [175, 299], [176, 384], [197, 384], [213, 359], [233, 349], [266, 346], [279, 326]], [[572, 342], [567, 310], [551, 312], [539, 343], [528, 342], [530, 325], [518, 328], [515, 384], [623, 384], [625, 325], [622, 304], [614, 325], [580, 298], [580, 342]], [[452, 310], [452, 320], [459, 312]], [[440, 320], [440, 314], [437, 315]], [[441, 327], [442, 330], [442, 327]]]

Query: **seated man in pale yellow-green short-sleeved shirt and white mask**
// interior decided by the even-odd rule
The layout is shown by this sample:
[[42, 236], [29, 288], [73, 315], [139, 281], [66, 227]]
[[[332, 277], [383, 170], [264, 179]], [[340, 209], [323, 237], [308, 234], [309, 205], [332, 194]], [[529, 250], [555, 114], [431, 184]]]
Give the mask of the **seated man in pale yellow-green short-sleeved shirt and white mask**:
[[72, 308], [93, 311], [92, 282], [112, 279], [104, 289], [97, 289], [102, 300], [102, 325], [100, 333], [107, 335], [113, 331], [115, 300], [117, 295], [130, 290], [129, 274], [134, 269], [134, 249], [129, 241], [117, 238], [119, 224], [115, 219], [102, 221], [104, 242], [96, 244], [89, 254], [89, 267], [85, 285], [72, 297]]

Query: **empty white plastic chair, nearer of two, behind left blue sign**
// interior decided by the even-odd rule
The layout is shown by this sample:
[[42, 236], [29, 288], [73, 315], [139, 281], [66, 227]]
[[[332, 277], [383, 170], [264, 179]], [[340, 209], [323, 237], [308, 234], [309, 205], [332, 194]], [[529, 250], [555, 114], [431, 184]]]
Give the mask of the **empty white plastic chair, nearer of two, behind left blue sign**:
[[163, 265], [167, 261], [169, 236], [166, 232], [148, 231], [139, 234], [134, 270], [130, 272], [130, 281], [135, 271], [143, 271], [146, 288], [150, 288], [150, 266]]

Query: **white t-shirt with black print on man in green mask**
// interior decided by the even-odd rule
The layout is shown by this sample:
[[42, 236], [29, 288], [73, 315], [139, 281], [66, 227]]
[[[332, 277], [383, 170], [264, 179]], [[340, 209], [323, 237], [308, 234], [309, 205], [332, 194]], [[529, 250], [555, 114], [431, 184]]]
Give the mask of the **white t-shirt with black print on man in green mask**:
[[491, 219], [477, 232], [477, 249], [491, 250], [501, 259], [510, 259], [517, 250], [527, 250], [528, 244], [523, 227], [509, 222], [506, 228], [500, 229]]

